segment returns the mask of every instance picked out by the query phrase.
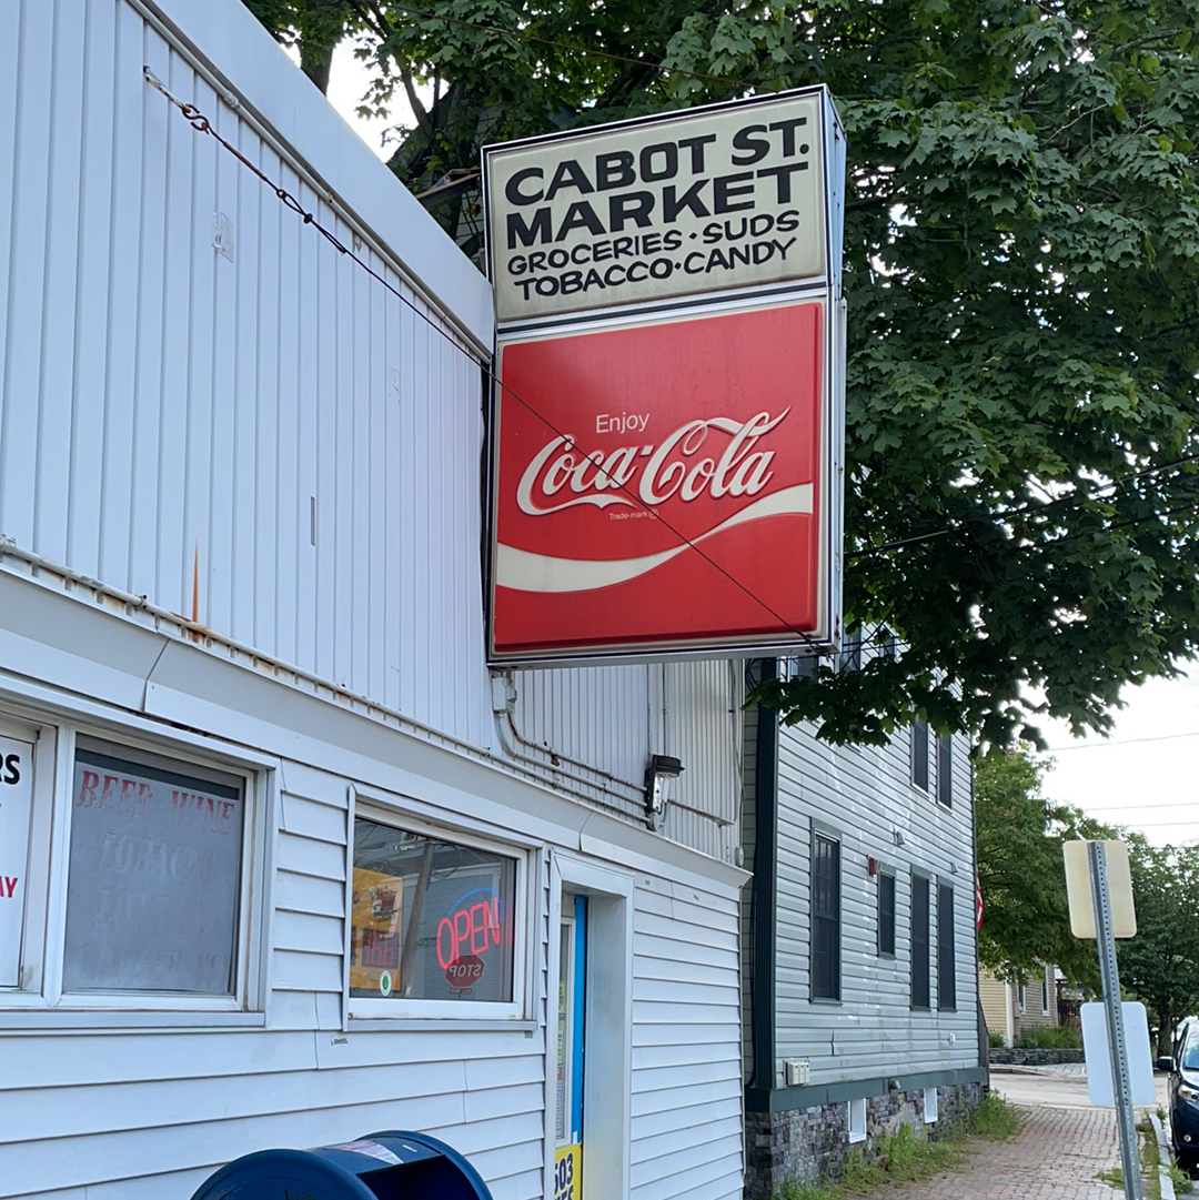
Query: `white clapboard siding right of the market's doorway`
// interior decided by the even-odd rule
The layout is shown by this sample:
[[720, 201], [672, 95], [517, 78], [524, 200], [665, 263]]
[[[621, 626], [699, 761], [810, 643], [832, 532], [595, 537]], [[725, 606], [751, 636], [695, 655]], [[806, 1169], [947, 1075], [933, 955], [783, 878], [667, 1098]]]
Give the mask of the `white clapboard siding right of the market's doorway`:
[[739, 1018], [737, 900], [639, 882], [631, 1195], [739, 1196], [742, 1064], [729, 1036]]

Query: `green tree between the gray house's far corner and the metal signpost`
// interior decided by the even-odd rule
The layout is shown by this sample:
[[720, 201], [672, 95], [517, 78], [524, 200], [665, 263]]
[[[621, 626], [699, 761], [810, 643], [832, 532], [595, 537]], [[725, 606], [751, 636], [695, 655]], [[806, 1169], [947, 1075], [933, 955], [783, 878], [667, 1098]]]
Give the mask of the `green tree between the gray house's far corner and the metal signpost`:
[[1114, 836], [1077, 809], [1042, 794], [1045, 764], [1025, 748], [991, 748], [975, 766], [975, 829], [983, 925], [978, 958], [1002, 979], [1023, 982], [1053, 964], [1095, 985], [1095, 942], [1071, 934], [1062, 842]]

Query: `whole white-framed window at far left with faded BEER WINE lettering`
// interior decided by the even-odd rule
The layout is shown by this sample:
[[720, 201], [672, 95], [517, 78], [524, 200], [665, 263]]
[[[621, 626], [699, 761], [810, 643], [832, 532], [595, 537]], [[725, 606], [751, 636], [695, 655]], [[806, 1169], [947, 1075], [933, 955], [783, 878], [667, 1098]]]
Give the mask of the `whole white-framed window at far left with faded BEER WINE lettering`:
[[156, 1014], [179, 1012], [263, 1022], [251, 898], [263, 893], [268, 763], [206, 754], [186, 734], [150, 749], [0, 728], [0, 882], [18, 900], [0, 906], [0, 1004], [20, 1013], [12, 1021], [49, 1027], [86, 1009], [115, 1025], [178, 1024]]

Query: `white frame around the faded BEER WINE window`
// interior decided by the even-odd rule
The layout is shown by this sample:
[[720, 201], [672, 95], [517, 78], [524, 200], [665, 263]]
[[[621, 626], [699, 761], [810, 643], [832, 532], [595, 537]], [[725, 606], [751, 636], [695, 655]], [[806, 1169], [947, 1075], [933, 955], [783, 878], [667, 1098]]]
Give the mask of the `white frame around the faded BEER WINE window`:
[[[84, 702], [85, 715], [103, 713]], [[276, 775], [278, 761], [232, 750], [198, 734], [150, 721], [128, 725], [59, 719], [49, 712], [31, 720], [0, 708], [0, 724], [14, 737], [35, 734], [30, 886], [26, 893], [20, 988], [0, 989], [0, 1028], [162, 1027], [265, 1024], [269, 896]], [[166, 762], [180, 774], [194, 770], [236, 776], [244, 788], [236, 968], [232, 995], [173, 995], [156, 991], [64, 990], [71, 800], [76, 749], [80, 738], [102, 743], [116, 757]], [[28, 738], [26, 738], [28, 739]]]

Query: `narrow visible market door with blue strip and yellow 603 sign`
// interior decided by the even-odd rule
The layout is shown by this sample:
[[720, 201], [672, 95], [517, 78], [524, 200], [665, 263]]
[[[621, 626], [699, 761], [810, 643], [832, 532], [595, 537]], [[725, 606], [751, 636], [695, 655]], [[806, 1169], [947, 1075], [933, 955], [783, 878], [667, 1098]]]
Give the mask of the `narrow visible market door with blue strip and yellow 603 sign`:
[[559, 938], [553, 1195], [554, 1200], [582, 1200], [586, 896], [563, 895]]

